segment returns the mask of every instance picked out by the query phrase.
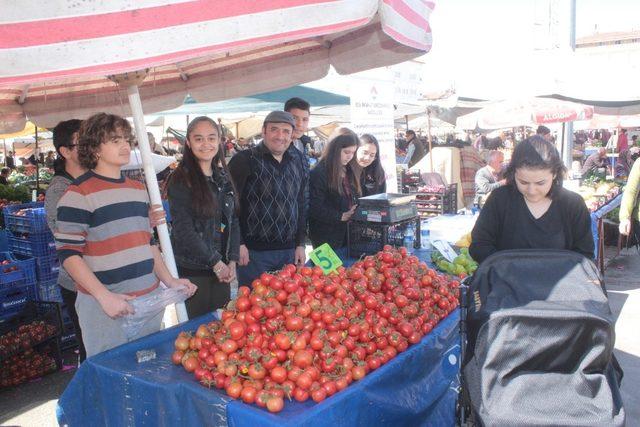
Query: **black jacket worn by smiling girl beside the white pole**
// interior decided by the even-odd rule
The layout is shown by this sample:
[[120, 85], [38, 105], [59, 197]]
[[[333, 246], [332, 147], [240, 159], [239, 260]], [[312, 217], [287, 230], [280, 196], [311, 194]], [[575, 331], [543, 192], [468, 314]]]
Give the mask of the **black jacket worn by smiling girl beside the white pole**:
[[231, 181], [226, 175], [210, 178], [209, 188], [218, 202], [213, 218], [197, 217], [191, 190], [175, 179], [167, 189], [171, 212], [171, 243], [178, 266], [211, 270], [219, 261], [238, 261], [240, 225], [235, 214]]

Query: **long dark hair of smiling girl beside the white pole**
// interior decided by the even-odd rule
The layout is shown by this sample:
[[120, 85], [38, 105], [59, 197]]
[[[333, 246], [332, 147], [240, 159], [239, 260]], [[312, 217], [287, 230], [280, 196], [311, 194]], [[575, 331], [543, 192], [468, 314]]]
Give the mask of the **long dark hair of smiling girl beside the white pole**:
[[[189, 144], [187, 144], [192, 136], [195, 127], [202, 122], [209, 123], [211, 126], [213, 126], [216, 132], [218, 132], [218, 152], [211, 160], [214, 179], [219, 179], [222, 173], [226, 174], [226, 176], [229, 177], [229, 170], [227, 169], [227, 163], [224, 159], [224, 143], [222, 141], [222, 133], [220, 132], [220, 127], [213, 119], [206, 116], [200, 116], [191, 120], [189, 126], [187, 126], [187, 141], [184, 144], [182, 161], [180, 161], [180, 164], [178, 165], [176, 170], [173, 172], [173, 174], [171, 174], [169, 180], [176, 180], [176, 182], [180, 182], [187, 188], [189, 188], [191, 190], [191, 200], [193, 201], [193, 210], [195, 214], [199, 217], [210, 218], [213, 217], [216, 213], [216, 210], [218, 208], [218, 201], [215, 199], [215, 197], [213, 197], [213, 194], [209, 190], [207, 177], [202, 172], [202, 168], [200, 168], [200, 164], [198, 163], [198, 159], [196, 158], [195, 154], [193, 154], [193, 150], [191, 149]], [[228, 181], [231, 185], [231, 180], [228, 179]]]

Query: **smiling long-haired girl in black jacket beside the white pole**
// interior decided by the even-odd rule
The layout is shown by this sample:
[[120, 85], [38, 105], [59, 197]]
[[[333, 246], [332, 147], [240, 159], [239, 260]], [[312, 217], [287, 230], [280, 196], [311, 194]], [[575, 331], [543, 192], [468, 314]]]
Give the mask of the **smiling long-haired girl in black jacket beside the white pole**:
[[198, 286], [186, 301], [189, 317], [223, 307], [230, 299], [229, 283], [236, 278], [240, 229], [221, 143], [215, 121], [193, 119], [182, 161], [169, 178], [176, 264], [180, 275]]

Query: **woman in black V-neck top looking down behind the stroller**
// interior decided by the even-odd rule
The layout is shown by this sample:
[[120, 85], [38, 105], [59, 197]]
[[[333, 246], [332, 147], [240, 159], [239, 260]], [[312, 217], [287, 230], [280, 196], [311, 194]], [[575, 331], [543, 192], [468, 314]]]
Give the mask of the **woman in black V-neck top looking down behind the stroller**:
[[591, 216], [578, 194], [562, 187], [566, 168], [558, 150], [535, 135], [516, 146], [505, 176], [471, 232], [478, 263], [510, 249], [565, 249], [593, 259]]

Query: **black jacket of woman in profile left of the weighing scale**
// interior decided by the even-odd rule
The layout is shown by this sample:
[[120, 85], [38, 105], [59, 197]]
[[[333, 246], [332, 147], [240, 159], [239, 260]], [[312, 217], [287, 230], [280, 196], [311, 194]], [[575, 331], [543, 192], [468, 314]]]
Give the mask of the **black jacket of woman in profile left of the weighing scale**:
[[[348, 169], [350, 171], [350, 169]], [[347, 223], [342, 214], [357, 201], [356, 189], [351, 189], [352, 199], [329, 189], [327, 168], [320, 161], [311, 170], [309, 179], [309, 237], [313, 247], [329, 243], [332, 248], [347, 244]]]

